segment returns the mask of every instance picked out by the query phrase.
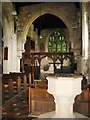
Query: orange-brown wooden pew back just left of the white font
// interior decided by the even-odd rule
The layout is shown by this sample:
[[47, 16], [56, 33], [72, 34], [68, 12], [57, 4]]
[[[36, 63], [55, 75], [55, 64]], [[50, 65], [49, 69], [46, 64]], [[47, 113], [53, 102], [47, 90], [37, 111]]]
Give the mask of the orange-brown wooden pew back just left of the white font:
[[31, 112], [43, 114], [55, 110], [54, 97], [42, 88], [31, 88]]

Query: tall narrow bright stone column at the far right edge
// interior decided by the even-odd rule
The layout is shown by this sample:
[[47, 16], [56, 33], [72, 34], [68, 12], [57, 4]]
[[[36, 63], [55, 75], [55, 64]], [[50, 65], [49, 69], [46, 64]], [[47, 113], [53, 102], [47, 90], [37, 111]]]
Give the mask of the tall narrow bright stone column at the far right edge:
[[88, 2], [82, 2], [82, 74], [87, 76], [87, 61], [89, 55], [89, 37], [88, 37]]

